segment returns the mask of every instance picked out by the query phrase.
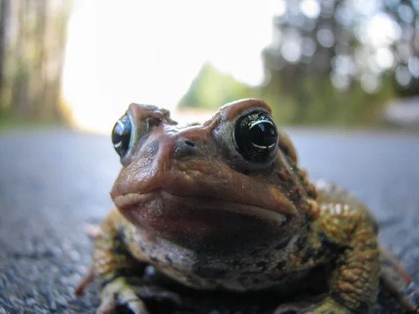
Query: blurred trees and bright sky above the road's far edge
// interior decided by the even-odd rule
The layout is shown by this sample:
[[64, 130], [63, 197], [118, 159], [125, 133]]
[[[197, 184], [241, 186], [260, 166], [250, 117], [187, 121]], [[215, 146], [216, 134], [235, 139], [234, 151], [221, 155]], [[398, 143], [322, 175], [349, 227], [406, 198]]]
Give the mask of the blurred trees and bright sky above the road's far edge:
[[1, 0], [0, 128], [109, 133], [131, 102], [203, 120], [419, 128], [419, 0]]

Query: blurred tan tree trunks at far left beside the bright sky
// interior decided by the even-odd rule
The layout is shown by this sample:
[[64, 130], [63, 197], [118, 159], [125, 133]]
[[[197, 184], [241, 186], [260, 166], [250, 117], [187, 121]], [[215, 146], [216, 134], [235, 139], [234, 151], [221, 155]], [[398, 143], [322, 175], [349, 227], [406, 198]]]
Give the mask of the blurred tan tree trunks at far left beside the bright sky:
[[1, 45], [0, 114], [41, 121], [61, 119], [61, 73], [71, 1], [16, 0], [8, 4]]

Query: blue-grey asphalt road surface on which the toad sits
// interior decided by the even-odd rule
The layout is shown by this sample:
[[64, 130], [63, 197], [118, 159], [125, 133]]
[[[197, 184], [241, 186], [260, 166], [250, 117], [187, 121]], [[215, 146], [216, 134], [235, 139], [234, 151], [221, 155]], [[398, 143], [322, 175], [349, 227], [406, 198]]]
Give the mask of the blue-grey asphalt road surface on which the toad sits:
[[[419, 136], [290, 130], [311, 179], [358, 195], [381, 241], [419, 282]], [[110, 138], [64, 129], [0, 135], [0, 313], [94, 313], [94, 286], [73, 297], [91, 259], [87, 223], [112, 206], [119, 170]], [[272, 297], [191, 294], [188, 309], [154, 313], [269, 313]], [[253, 298], [253, 299], [252, 299]], [[374, 313], [403, 313], [385, 296]], [[168, 306], [170, 308], [170, 306]]]

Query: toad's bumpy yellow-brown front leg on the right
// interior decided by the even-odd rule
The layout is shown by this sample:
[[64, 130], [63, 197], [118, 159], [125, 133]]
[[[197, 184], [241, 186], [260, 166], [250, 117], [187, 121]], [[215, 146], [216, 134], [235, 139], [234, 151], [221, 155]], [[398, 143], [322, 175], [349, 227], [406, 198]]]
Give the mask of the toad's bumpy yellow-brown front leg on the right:
[[328, 295], [305, 308], [280, 306], [276, 313], [368, 313], [376, 301], [380, 276], [376, 228], [362, 211], [330, 204], [323, 207], [314, 232], [337, 251]]

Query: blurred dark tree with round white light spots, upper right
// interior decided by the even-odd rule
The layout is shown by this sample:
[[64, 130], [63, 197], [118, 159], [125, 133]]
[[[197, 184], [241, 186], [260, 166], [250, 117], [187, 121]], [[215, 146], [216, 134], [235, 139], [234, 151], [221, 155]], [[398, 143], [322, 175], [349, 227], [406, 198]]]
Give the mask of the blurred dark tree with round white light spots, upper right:
[[368, 124], [419, 94], [419, 1], [278, 0], [263, 96], [293, 123]]

